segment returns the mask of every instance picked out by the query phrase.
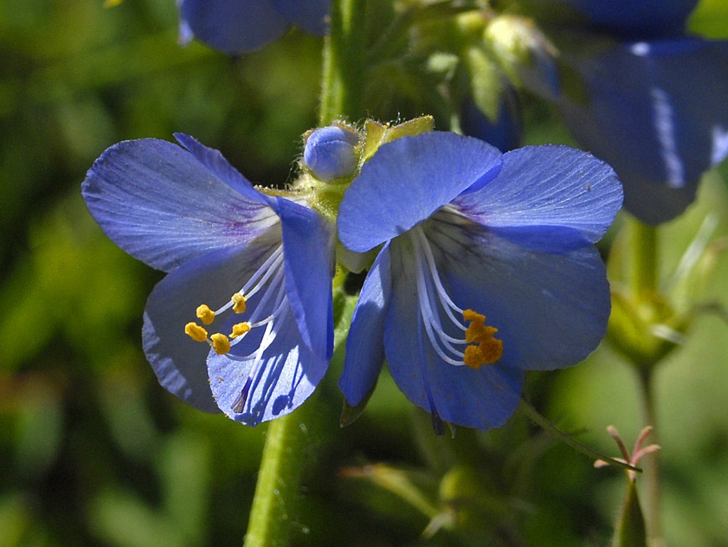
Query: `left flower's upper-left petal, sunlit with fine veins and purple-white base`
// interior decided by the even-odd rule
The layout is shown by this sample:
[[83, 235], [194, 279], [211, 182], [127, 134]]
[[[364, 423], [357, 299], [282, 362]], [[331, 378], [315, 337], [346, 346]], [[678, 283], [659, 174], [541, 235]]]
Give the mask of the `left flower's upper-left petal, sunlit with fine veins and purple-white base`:
[[236, 192], [193, 154], [157, 139], [106, 149], [82, 195], [116, 245], [164, 271], [251, 240], [277, 222], [269, 207]]

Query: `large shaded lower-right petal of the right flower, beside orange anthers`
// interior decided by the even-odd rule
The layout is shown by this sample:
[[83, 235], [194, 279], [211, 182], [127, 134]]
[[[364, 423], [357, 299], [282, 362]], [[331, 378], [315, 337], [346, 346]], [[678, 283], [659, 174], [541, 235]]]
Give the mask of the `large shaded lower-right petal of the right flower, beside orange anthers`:
[[538, 253], [483, 227], [428, 224], [454, 302], [486, 315], [503, 341], [499, 363], [551, 370], [582, 361], [601, 342], [611, 310], [604, 261], [593, 245]]

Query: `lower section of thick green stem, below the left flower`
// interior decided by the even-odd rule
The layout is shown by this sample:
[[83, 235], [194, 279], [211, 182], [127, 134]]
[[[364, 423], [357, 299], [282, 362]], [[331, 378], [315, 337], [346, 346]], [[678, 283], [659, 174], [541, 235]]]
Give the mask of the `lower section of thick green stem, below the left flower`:
[[258, 473], [256, 495], [250, 508], [245, 547], [288, 545], [290, 514], [296, 506], [301, 480], [301, 460], [306, 453], [309, 401], [292, 414], [270, 422]]

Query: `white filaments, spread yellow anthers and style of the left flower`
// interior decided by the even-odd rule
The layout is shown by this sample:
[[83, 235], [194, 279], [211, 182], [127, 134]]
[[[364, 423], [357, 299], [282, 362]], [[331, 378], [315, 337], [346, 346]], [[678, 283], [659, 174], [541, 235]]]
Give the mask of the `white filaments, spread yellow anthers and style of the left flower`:
[[[218, 355], [226, 355], [226, 357], [234, 361], [253, 361], [253, 366], [251, 366], [248, 379], [240, 391], [240, 396], [232, 404], [233, 412], [241, 413], [243, 411], [248, 400], [248, 393], [250, 393], [251, 389], [255, 390], [256, 385], [260, 382], [265, 369], [265, 361], [262, 359], [262, 355], [276, 337], [275, 323], [288, 311], [288, 296], [285, 293], [283, 272], [283, 247], [279, 245], [261, 264], [261, 267], [250, 276], [245, 286], [235, 292], [229, 301], [218, 310], [213, 311], [207, 304], [200, 304], [197, 307], [197, 319], [205, 326], [211, 325], [218, 319], [218, 316], [229, 310], [232, 310], [235, 315], [250, 312], [248, 320], [232, 325], [230, 334], [221, 332], [207, 334], [204, 327], [194, 322], [187, 323], [185, 326], [185, 333], [191, 339], [195, 342], [207, 342]], [[248, 301], [258, 293], [261, 296], [256, 302], [255, 309], [248, 310]], [[261, 317], [261, 315], [265, 314], [265, 310], [272, 311]], [[248, 333], [256, 329], [262, 330], [263, 334], [258, 347], [253, 353], [248, 355], [229, 353], [232, 347], [242, 342]]]

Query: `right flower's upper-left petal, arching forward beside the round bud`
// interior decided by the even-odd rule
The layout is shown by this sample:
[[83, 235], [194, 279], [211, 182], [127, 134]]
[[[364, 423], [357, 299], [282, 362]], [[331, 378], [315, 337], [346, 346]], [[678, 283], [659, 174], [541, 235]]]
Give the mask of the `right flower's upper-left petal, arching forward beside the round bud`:
[[458, 194], [491, 181], [500, 158], [494, 146], [455, 133], [424, 133], [381, 146], [341, 201], [341, 243], [364, 252], [403, 234]]

